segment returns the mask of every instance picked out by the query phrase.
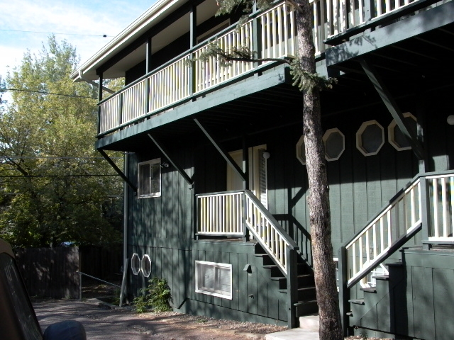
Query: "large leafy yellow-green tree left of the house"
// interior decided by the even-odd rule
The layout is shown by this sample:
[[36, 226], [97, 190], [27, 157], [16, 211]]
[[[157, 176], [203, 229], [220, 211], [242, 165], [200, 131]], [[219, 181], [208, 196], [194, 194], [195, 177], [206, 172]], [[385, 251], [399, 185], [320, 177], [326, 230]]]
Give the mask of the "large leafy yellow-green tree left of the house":
[[6, 77], [0, 112], [0, 237], [15, 246], [121, 240], [121, 181], [94, 149], [96, 90], [73, 83], [78, 57], [48, 39]]

